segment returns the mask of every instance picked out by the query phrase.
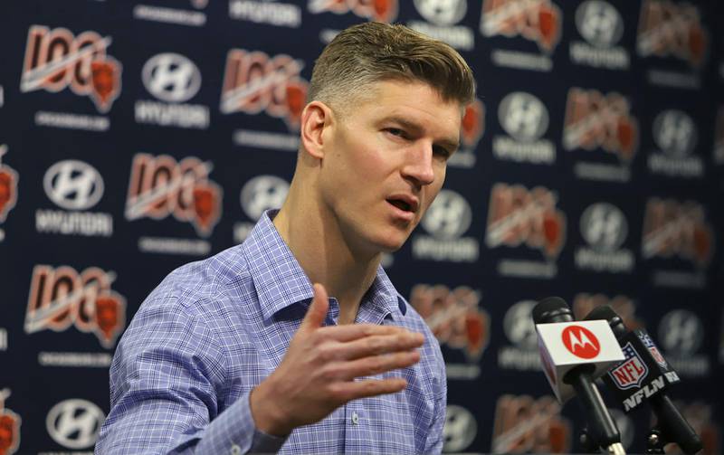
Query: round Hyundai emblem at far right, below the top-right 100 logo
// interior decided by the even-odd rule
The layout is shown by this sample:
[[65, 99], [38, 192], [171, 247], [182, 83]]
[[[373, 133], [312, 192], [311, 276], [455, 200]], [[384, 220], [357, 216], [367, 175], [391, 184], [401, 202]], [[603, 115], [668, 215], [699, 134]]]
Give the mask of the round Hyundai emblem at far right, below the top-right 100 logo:
[[696, 125], [681, 110], [664, 110], [653, 119], [653, 141], [668, 156], [687, 156], [696, 146]]

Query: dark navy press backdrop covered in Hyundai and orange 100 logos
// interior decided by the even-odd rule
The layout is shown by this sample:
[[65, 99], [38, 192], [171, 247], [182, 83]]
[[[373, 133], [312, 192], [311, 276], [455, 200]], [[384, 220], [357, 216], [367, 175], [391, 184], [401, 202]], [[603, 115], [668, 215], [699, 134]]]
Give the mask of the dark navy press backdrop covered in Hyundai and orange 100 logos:
[[[385, 264], [447, 363], [446, 451], [579, 450], [530, 308], [646, 328], [724, 451], [720, 2], [78, 0], [0, 14], [0, 453], [90, 450], [108, 368], [177, 266], [283, 202], [315, 58], [407, 24], [471, 63], [445, 187]], [[633, 379], [631, 379], [633, 381]], [[647, 410], [605, 393], [633, 451]]]

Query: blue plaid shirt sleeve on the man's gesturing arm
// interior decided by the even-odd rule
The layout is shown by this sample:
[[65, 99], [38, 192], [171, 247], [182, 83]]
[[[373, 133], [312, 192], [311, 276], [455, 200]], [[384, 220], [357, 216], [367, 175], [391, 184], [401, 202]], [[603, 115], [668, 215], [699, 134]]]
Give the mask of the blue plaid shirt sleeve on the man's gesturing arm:
[[284, 438], [254, 427], [248, 392], [219, 412], [226, 369], [224, 348], [201, 318], [176, 298], [146, 302], [110, 367], [111, 409], [96, 453], [279, 450]]

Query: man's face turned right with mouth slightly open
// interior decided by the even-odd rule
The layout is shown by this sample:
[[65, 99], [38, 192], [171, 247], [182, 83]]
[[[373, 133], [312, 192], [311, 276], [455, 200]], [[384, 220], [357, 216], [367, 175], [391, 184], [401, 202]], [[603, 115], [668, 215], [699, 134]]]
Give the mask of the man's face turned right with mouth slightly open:
[[344, 240], [363, 253], [403, 245], [443, 185], [462, 121], [459, 103], [422, 82], [370, 90], [323, 133], [319, 180]]

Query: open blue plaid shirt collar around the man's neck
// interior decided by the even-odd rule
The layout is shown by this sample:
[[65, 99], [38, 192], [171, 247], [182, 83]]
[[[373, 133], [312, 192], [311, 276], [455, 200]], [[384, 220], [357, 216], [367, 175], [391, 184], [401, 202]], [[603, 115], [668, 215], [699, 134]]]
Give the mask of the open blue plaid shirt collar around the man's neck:
[[[314, 295], [310, 279], [271, 222], [278, 212], [264, 212], [243, 242], [243, 253], [252, 272], [264, 319], [295, 303], [309, 301]], [[398, 298], [395, 286], [382, 266], [377, 269], [376, 278], [363, 299], [362, 305], [367, 304], [371, 304], [369, 309], [373, 313], [383, 318], [387, 314], [393, 318], [405, 315], [405, 301]]]

